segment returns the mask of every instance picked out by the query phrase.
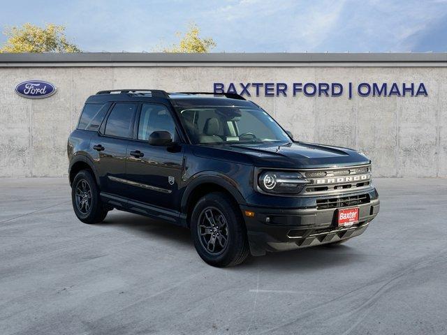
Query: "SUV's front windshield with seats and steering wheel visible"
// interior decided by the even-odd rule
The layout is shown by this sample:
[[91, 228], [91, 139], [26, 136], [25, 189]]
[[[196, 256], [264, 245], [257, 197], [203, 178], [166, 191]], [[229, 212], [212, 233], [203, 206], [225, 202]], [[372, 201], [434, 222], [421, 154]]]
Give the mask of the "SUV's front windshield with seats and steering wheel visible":
[[285, 131], [260, 108], [200, 106], [179, 110], [194, 144], [290, 143]]

